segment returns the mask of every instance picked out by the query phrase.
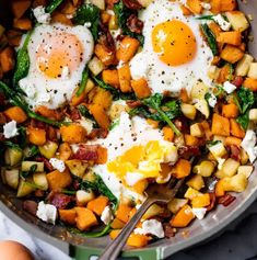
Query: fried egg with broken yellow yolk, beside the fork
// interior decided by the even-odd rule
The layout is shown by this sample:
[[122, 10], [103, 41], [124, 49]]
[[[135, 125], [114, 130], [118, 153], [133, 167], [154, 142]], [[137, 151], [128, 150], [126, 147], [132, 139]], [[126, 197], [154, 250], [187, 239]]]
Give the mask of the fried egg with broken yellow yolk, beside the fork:
[[161, 178], [162, 163], [177, 160], [177, 148], [164, 140], [161, 129], [153, 128], [142, 117], [130, 118], [126, 112], [105, 139], [89, 144], [107, 148], [107, 162], [94, 166], [92, 170], [117, 197], [142, 200], [142, 194], [133, 186], [144, 179]]

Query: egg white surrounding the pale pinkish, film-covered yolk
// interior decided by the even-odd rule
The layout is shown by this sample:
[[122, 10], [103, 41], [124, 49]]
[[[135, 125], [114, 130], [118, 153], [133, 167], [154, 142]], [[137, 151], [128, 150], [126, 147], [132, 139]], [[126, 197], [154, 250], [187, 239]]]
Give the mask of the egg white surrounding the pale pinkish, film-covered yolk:
[[[36, 52], [47, 33], [65, 31], [75, 35], [83, 46], [83, 56], [79, 68], [73, 71], [65, 71], [61, 78], [48, 78], [37, 66]], [[82, 71], [90, 60], [94, 48], [93, 36], [87, 27], [82, 25], [67, 26], [63, 24], [43, 24], [34, 29], [30, 44], [30, 70], [25, 78], [19, 81], [20, 87], [27, 94], [26, 102], [34, 109], [38, 105], [46, 105], [49, 109], [57, 109], [63, 105], [72, 97], [74, 89], [79, 86]]]

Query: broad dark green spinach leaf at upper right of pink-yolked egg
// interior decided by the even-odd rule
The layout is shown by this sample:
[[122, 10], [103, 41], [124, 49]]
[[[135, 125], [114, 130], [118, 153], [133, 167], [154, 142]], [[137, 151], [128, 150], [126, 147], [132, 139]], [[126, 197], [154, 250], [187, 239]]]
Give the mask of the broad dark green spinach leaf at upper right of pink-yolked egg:
[[92, 3], [82, 4], [73, 18], [75, 24], [84, 25], [91, 23], [90, 31], [94, 41], [98, 38], [100, 9]]

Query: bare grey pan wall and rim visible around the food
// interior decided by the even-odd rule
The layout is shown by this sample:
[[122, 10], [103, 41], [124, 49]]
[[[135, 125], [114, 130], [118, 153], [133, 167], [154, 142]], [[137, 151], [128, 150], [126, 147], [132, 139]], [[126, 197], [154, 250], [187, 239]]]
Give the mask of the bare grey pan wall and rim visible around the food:
[[[0, 0], [0, 16], [7, 20], [7, 0]], [[252, 14], [257, 20], [257, 1], [248, 0], [247, 3], [238, 2], [246, 14]], [[3, 15], [1, 15], [3, 13]], [[254, 24], [256, 25], [256, 20]], [[2, 22], [1, 21], [1, 22]], [[257, 38], [257, 26], [253, 26], [253, 34]], [[249, 50], [257, 58], [257, 42], [249, 43]], [[136, 257], [141, 260], [164, 259], [182, 249], [202, 242], [221, 231], [227, 224], [237, 218], [257, 197], [257, 169], [250, 177], [247, 190], [237, 194], [237, 199], [229, 207], [220, 206], [210, 213], [203, 221], [196, 221], [187, 228], [188, 237], [177, 234], [172, 239], [159, 240], [142, 249], [126, 248], [122, 257]], [[97, 256], [109, 242], [108, 237], [84, 238], [79, 235], [69, 234], [66, 228], [47, 225], [22, 210], [22, 201], [0, 182], [0, 210], [17, 225], [39, 237], [40, 239], [56, 246], [67, 255], [77, 260], [86, 260], [91, 256]]]

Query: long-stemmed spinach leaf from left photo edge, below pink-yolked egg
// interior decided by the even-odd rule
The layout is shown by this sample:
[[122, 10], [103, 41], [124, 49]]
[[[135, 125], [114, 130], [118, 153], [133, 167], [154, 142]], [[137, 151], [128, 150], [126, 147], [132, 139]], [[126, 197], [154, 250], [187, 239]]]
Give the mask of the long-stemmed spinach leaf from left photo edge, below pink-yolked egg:
[[54, 126], [61, 126], [63, 124], [63, 122], [56, 122], [52, 120], [48, 120], [42, 115], [38, 115], [37, 113], [35, 113], [34, 111], [32, 111], [27, 103], [25, 102], [25, 100], [23, 99], [23, 97], [21, 97], [20, 93], [16, 93], [14, 90], [10, 89], [5, 83], [3, 83], [2, 81], [0, 81], [0, 89], [3, 90], [4, 94], [7, 95], [7, 98], [9, 99], [10, 103], [12, 105], [17, 105], [20, 106], [31, 118], [35, 118], [42, 122], [45, 122], [49, 125], [54, 125]]

